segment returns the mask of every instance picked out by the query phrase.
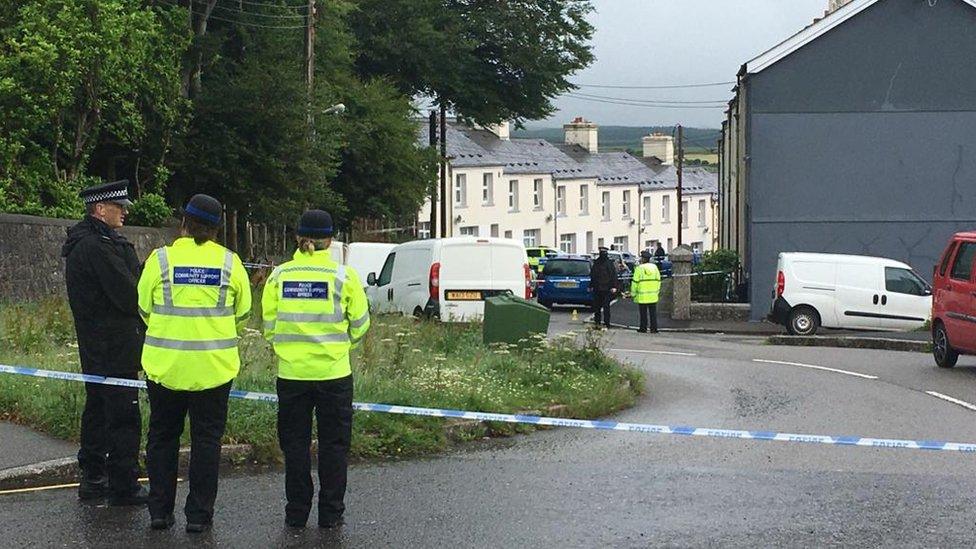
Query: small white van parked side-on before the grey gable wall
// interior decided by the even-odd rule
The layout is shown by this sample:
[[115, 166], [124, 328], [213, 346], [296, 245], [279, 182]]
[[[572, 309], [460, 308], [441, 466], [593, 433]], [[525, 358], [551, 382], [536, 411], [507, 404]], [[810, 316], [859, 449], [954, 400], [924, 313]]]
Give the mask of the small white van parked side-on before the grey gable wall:
[[932, 315], [932, 288], [912, 268], [883, 257], [781, 253], [769, 320], [794, 335], [821, 326], [908, 331]]

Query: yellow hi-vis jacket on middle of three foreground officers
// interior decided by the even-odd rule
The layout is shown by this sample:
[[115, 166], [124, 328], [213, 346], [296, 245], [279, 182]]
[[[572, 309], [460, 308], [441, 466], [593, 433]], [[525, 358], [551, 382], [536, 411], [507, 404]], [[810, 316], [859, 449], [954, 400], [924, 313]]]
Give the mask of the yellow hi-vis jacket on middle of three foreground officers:
[[146, 321], [146, 377], [177, 391], [202, 391], [237, 376], [237, 335], [251, 312], [251, 285], [234, 252], [178, 238], [146, 259], [139, 313]]

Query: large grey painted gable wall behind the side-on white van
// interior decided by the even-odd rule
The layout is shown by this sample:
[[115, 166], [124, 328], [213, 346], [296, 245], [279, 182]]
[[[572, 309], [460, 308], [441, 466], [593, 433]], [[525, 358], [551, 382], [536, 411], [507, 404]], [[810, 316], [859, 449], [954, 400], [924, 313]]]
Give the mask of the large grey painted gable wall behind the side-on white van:
[[747, 81], [753, 318], [779, 252], [905, 261], [931, 278], [976, 228], [976, 9], [882, 0]]

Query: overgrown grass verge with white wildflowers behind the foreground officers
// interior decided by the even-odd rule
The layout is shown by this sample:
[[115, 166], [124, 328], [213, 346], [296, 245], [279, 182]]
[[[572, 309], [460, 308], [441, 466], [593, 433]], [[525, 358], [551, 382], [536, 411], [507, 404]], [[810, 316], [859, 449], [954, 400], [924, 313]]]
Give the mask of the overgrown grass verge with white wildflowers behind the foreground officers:
[[[378, 316], [354, 351], [355, 399], [501, 413], [546, 413], [550, 406], [564, 405], [565, 416], [601, 417], [632, 405], [644, 380], [639, 371], [617, 362], [600, 347], [599, 336], [578, 344], [573, 334], [556, 340], [535, 338], [518, 346], [485, 347], [478, 324]], [[243, 364], [234, 387], [274, 393], [274, 353], [260, 332], [248, 329], [240, 349]], [[0, 306], [0, 362], [79, 371], [66, 303]], [[146, 416], [144, 393], [142, 398]], [[0, 419], [77, 440], [83, 405], [80, 383], [0, 375]], [[252, 444], [262, 461], [277, 460], [275, 414], [273, 404], [231, 399], [224, 442]], [[144, 417], [143, 427], [147, 424]], [[352, 454], [370, 458], [438, 452], [451, 443], [446, 425], [442, 418], [356, 412]], [[531, 429], [492, 424], [458, 438]]]

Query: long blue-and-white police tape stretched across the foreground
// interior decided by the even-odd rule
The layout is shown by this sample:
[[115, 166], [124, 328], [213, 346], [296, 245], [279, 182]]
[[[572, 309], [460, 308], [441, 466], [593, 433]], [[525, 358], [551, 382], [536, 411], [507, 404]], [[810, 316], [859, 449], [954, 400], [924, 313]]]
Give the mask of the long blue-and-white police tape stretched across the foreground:
[[[82, 381], [99, 383], [102, 385], [116, 385], [123, 387], [146, 388], [145, 381], [135, 379], [120, 379], [112, 377], [59, 372], [54, 370], [40, 370], [23, 366], [8, 366], [0, 364], [0, 373], [15, 374], [47, 379], [66, 381]], [[257, 400], [262, 402], [277, 402], [278, 396], [271, 393], [232, 390], [232, 398]], [[354, 402], [354, 410], [361, 412], [380, 412], [385, 414], [403, 414], [412, 416], [443, 417], [449, 419], [474, 419], [478, 421], [498, 421], [503, 423], [524, 423], [528, 425], [544, 425], [548, 427], [575, 427], [578, 429], [594, 429], [599, 431], [627, 431], [631, 433], [649, 433], [659, 435], [682, 435], [711, 438], [737, 438], [745, 440], [765, 440], [775, 442], [800, 442], [805, 444], [829, 444], [835, 446], [861, 446], [869, 448], [904, 448], [909, 450], [941, 450], [945, 452], [976, 453], [976, 444], [962, 442], [940, 442], [929, 440], [899, 440], [889, 438], [869, 438], [855, 436], [826, 436], [795, 433], [774, 433], [771, 431], [743, 431], [737, 429], [709, 429], [704, 427], [684, 427], [670, 425], [652, 425], [648, 423], [624, 423], [619, 421], [566, 419], [558, 417], [529, 416], [522, 414], [496, 414], [490, 412], [468, 412], [444, 408], [420, 408], [416, 406], [400, 406], [396, 404], [375, 404], [368, 402]]]

